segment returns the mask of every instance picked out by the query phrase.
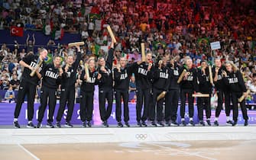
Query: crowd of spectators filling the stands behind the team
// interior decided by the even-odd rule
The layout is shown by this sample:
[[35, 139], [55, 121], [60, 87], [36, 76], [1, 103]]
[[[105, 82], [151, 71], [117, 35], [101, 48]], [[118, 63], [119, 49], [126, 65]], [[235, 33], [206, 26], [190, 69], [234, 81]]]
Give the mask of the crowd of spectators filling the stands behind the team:
[[[254, 1], [0, 0], [0, 5], [0, 28], [17, 25], [41, 31], [50, 25], [80, 34], [86, 42], [85, 58], [105, 55], [105, 50], [96, 53], [96, 46], [107, 46], [110, 42], [105, 29], [105, 25], [110, 24], [118, 40], [115, 59], [124, 54], [129, 62], [140, 59], [141, 42], [146, 44], [147, 51], [154, 53], [154, 59], [169, 60], [179, 55], [182, 62], [184, 56], [191, 56], [194, 66], [199, 66], [202, 59], [209, 63], [216, 57], [223, 62], [229, 59], [241, 69], [248, 87], [256, 91]], [[209, 43], [215, 41], [221, 43], [221, 49], [212, 51]], [[56, 44], [51, 41], [49, 45]], [[61, 47], [49, 51], [63, 56], [74, 53]], [[8, 89], [15, 73], [18, 79], [21, 76], [18, 59], [25, 54], [23, 48], [9, 50], [2, 45], [2, 89]]]

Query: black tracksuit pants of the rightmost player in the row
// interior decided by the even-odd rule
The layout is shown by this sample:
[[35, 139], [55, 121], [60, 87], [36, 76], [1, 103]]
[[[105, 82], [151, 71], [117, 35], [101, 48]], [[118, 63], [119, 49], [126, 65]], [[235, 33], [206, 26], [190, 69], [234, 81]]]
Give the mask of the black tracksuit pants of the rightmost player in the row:
[[[242, 93], [232, 92], [232, 104], [233, 104], [233, 120], [238, 121], [238, 98], [240, 98]], [[244, 120], [248, 120], [245, 99], [241, 101], [241, 113], [243, 114]]]

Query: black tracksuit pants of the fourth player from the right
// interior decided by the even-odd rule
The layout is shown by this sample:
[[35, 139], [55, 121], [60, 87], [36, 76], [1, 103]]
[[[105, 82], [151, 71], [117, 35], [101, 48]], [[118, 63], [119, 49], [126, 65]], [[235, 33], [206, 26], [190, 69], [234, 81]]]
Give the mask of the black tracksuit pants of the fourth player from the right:
[[194, 115], [194, 98], [192, 97], [193, 90], [192, 89], [181, 89], [180, 90], [180, 117], [185, 117], [185, 104], [186, 104], [186, 95], [189, 101], [189, 114], [190, 118]]

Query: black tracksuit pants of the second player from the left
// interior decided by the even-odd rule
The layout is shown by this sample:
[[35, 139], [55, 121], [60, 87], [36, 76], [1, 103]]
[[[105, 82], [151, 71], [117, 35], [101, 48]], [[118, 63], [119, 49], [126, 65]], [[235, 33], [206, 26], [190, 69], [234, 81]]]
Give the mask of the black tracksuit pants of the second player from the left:
[[53, 122], [53, 114], [56, 106], [56, 88], [47, 88], [45, 86], [42, 86], [41, 88], [41, 106], [39, 107], [38, 111], [38, 122], [42, 122], [44, 118], [44, 112], [47, 107], [47, 101], [49, 98], [49, 115], [47, 122]]

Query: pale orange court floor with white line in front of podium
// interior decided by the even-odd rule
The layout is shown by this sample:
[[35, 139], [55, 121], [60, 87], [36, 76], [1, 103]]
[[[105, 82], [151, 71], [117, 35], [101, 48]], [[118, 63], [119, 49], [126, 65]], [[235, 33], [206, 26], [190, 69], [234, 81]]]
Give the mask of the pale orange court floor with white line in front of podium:
[[2, 160], [254, 160], [256, 140], [1, 145]]

